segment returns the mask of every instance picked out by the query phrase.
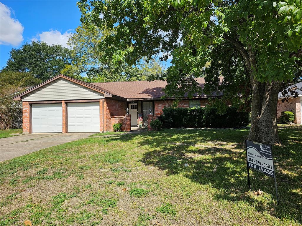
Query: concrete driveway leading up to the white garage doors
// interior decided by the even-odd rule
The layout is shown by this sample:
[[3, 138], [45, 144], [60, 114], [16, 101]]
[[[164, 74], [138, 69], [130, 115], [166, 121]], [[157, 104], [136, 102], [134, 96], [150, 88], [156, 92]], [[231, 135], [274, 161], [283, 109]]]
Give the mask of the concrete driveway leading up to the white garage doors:
[[30, 133], [0, 139], [0, 162], [88, 137], [94, 133]]

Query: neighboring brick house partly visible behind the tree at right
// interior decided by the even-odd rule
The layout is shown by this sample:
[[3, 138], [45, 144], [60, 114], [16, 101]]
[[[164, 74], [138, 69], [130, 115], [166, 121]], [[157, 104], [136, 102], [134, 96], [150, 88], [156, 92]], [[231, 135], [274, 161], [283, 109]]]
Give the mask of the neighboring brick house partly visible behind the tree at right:
[[282, 96], [281, 93], [279, 93], [278, 97], [278, 105], [277, 105], [277, 119], [280, 118], [282, 111], [292, 111], [295, 115], [294, 123], [302, 124], [302, 82], [297, 83], [296, 85], [292, 85], [289, 87], [297, 86], [297, 92], [299, 94], [299, 97], [293, 98], [290, 97], [288, 99], [288, 102], [282, 102], [282, 99], [284, 99], [284, 96]]

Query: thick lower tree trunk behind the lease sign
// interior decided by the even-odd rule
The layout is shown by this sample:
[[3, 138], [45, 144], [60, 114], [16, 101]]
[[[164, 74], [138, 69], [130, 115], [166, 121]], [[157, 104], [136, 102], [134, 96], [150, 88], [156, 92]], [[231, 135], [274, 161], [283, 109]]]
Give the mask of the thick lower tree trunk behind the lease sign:
[[260, 83], [250, 78], [252, 85], [252, 122], [247, 140], [281, 145], [277, 126], [279, 82]]

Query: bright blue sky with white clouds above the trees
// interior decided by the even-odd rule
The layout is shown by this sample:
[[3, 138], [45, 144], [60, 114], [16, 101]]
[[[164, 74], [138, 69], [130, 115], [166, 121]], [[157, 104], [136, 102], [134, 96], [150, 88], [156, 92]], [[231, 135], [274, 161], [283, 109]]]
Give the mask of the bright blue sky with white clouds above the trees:
[[[20, 48], [33, 39], [67, 46], [68, 36], [80, 25], [77, 1], [0, 2], [0, 69], [5, 66], [12, 48]], [[168, 60], [166, 68], [170, 65]]]

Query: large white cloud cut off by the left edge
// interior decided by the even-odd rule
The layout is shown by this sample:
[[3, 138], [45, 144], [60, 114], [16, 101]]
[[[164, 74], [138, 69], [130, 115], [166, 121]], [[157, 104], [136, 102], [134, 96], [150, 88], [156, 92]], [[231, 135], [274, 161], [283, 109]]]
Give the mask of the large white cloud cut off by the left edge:
[[0, 2], [0, 44], [18, 46], [23, 41], [24, 27], [11, 17], [11, 9]]

